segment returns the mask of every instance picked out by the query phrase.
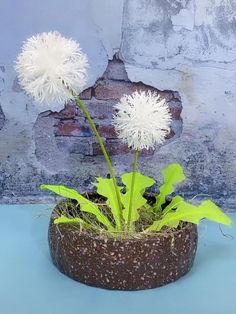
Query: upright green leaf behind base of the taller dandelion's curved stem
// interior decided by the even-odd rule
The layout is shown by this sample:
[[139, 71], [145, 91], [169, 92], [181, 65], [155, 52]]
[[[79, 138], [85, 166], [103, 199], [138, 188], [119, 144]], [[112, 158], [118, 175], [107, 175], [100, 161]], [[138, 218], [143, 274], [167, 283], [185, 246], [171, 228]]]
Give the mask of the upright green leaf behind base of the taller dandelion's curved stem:
[[[97, 178], [97, 182], [94, 183], [97, 188], [97, 193], [107, 198], [106, 204], [110, 207], [111, 213], [114, 217], [117, 230], [122, 229], [120, 208], [116, 197], [116, 190], [112, 179]], [[118, 187], [119, 193], [122, 187]]]

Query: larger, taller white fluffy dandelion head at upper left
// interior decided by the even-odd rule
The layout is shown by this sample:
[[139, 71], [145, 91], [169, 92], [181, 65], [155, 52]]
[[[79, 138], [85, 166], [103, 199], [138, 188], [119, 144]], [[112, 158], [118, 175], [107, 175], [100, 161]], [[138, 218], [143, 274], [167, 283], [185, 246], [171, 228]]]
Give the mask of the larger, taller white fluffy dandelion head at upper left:
[[80, 93], [86, 83], [88, 61], [79, 44], [49, 32], [29, 38], [16, 61], [19, 83], [39, 102], [65, 102], [70, 88]]

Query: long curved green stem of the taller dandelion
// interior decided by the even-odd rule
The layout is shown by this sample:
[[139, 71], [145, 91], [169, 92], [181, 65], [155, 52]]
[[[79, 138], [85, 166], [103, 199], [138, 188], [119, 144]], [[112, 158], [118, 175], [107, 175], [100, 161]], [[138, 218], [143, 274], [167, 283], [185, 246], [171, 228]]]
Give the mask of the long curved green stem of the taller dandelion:
[[120, 193], [119, 193], [119, 190], [118, 190], [118, 187], [117, 187], [117, 182], [116, 182], [116, 175], [115, 175], [115, 171], [112, 167], [112, 164], [111, 164], [111, 160], [108, 156], [108, 153], [106, 151], [106, 148], [104, 146], [104, 143], [103, 143], [103, 140], [100, 136], [100, 134], [98, 133], [98, 130], [96, 128], [96, 125], [95, 123], [93, 122], [85, 104], [83, 103], [83, 101], [77, 96], [74, 94], [74, 92], [72, 92], [72, 95], [76, 101], [76, 104], [80, 107], [80, 109], [82, 110], [82, 112], [84, 113], [85, 117], [87, 118], [89, 124], [90, 124], [90, 127], [91, 129], [93, 130], [96, 138], [97, 138], [97, 141], [98, 141], [98, 144], [100, 145], [100, 148], [102, 150], [102, 153], [104, 155], [104, 158], [105, 158], [105, 161], [107, 163], [107, 166], [108, 166], [108, 169], [110, 171], [110, 174], [111, 174], [111, 177], [112, 177], [112, 181], [113, 181], [113, 184], [114, 184], [114, 188], [115, 188], [115, 192], [116, 192], [116, 198], [117, 198], [117, 202], [118, 202], [118, 206], [119, 206], [119, 225], [117, 226], [117, 228], [120, 230], [122, 228], [122, 206], [121, 206], [121, 198], [120, 198]]

